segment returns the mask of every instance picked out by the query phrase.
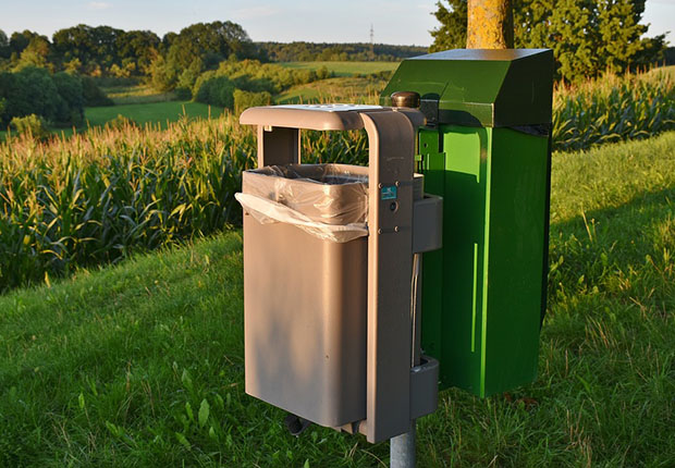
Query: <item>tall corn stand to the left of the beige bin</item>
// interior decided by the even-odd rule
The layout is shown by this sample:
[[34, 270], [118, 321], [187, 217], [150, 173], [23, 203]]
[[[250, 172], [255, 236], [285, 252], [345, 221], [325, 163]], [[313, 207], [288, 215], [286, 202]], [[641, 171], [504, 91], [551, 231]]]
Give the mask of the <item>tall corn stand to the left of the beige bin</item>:
[[253, 132], [232, 120], [0, 146], [0, 288], [236, 223]]

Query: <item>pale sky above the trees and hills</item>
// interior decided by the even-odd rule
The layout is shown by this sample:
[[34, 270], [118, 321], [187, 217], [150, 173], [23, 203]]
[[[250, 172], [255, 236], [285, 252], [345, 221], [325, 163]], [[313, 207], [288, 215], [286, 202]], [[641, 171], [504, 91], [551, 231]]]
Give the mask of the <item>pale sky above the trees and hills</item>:
[[[150, 29], [160, 37], [198, 22], [230, 20], [255, 41], [376, 42], [429, 46], [438, 26], [437, 0], [0, 0], [0, 29], [9, 36], [30, 29], [51, 37], [81, 23], [120, 29]], [[648, 36], [671, 29], [675, 46], [675, 0], [647, 0]]]

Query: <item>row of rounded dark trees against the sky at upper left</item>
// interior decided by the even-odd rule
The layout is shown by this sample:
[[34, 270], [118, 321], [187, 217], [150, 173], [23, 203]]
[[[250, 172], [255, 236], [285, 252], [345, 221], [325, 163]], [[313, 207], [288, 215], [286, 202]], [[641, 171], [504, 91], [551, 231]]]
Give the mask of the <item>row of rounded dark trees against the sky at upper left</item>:
[[84, 24], [59, 29], [51, 40], [30, 30], [10, 37], [0, 30], [0, 70], [33, 65], [89, 76], [147, 76], [160, 57], [185, 67], [195, 57], [216, 66], [231, 54], [257, 57], [246, 32], [232, 22], [198, 23], [161, 39], [150, 30]]

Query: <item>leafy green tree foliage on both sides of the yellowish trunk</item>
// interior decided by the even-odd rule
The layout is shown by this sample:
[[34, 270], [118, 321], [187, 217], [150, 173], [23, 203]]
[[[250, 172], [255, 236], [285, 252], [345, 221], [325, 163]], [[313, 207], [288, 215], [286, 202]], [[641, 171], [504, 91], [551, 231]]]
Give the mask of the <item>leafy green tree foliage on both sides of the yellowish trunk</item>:
[[[512, 0], [516, 48], [550, 48], [576, 82], [664, 60], [665, 35], [643, 37], [645, 0]], [[431, 51], [466, 47], [467, 0], [440, 0]]]

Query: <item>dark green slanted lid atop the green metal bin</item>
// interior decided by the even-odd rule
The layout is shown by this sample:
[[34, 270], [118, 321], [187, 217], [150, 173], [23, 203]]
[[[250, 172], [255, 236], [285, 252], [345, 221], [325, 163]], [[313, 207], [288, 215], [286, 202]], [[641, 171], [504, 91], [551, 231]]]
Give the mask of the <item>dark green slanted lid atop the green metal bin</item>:
[[430, 125], [551, 123], [553, 51], [454, 49], [404, 60], [380, 96], [416, 91]]

